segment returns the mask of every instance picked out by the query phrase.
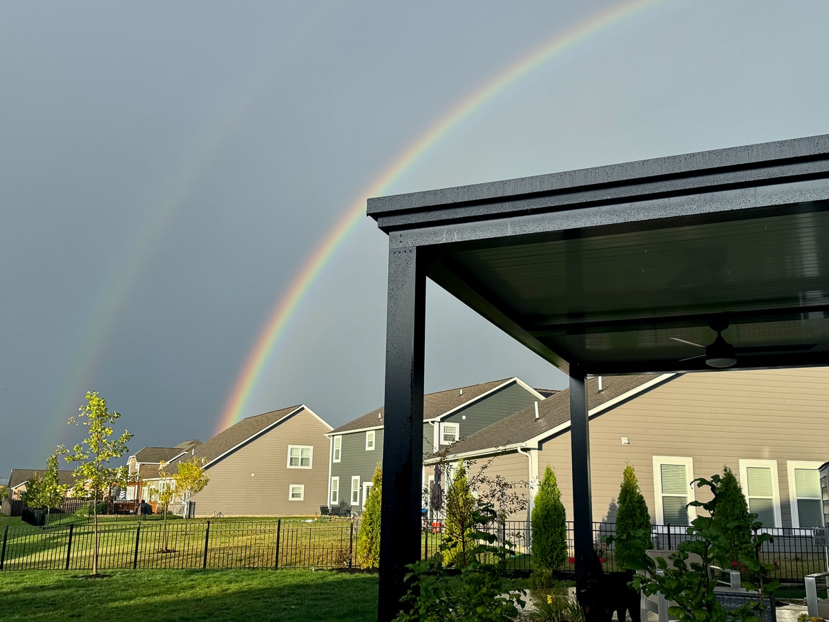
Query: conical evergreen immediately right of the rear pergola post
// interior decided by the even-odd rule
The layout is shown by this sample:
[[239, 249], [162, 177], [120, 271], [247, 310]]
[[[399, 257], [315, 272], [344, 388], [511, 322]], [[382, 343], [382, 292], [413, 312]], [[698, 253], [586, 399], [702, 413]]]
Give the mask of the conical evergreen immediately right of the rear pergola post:
[[639, 490], [633, 464], [624, 468], [622, 486], [619, 488], [616, 513], [616, 564], [622, 570], [642, 567], [642, 558], [651, 541], [651, 516], [647, 503]]

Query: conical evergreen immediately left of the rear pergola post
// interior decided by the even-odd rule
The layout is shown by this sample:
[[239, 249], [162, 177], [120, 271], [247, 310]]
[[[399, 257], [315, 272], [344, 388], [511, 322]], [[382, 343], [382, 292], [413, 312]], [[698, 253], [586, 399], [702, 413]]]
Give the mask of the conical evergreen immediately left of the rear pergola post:
[[[561, 503], [561, 491], [550, 465], [544, 469], [544, 477], [536, 493], [532, 508], [532, 562], [534, 582], [546, 583], [552, 579], [552, 571], [564, 564], [567, 558], [567, 514]], [[541, 586], [539, 586], [541, 587]]]

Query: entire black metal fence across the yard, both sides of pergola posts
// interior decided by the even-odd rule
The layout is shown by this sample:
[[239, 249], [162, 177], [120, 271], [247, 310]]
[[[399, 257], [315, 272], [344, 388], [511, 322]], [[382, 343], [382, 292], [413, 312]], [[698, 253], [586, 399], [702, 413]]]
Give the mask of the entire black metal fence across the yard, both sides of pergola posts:
[[[604, 536], [613, 523], [594, 523], [594, 546], [605, 570], [617, 570], [613, 547]], [[141, 521], [99, 522], [99, 568], [351, 568], [356, 566], [358, 521]], [[527, 522], [508, 521], [488, 527], [498, 542], [515, 552], [508, 560], [514, 571], [531, 571], [531, 529]], [[422, 555], [439, 551], [443, 526], [424, 528]], [[764, 545], [764, 561], [776, 562], [777, 578], [799, 582], [827, 569], [824, 547], [816, 547], [811, 530], [769, 530], [773, 542]], [[0, 571], [88, 570], [92, 567], [94, 526], [89, 522], [50, 527], [12, 527], [0, 532]], [[654, 527], [653, 546], [672, 550], [688, 539], [686, 527]], [[573, 526], [568, 525], [573, 550]], [[572, 553], [571, 553], [572, 554]], [[572, 557], [561, 571], [574, 571]]]

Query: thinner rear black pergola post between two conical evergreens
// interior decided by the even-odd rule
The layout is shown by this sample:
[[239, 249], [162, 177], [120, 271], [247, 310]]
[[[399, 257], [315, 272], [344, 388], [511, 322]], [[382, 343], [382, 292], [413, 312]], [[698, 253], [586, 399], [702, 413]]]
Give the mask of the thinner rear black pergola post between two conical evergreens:
[[590, 436], [587, 381], [570, 366], [570, 456], [573, 462], [573, 545], [576, 580], [593, 555], [593, 495], [590, 489]]

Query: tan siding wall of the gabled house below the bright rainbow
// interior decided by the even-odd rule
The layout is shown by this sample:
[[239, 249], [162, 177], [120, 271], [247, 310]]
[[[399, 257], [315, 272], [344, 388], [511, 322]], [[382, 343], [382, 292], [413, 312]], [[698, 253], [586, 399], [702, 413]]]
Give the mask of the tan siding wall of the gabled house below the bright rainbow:
[[[196, 516], [309, 516], [326, 504], [330, 429], [300, 411], [208, 465], [210, 484], [192, 498]], [[311, 469], [288, 469], [288, 445], [312, 446]], [[289, 501], [290, 484], [304, 486], [303, 501]]]

